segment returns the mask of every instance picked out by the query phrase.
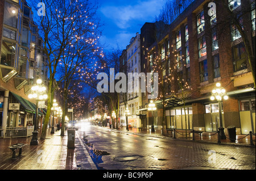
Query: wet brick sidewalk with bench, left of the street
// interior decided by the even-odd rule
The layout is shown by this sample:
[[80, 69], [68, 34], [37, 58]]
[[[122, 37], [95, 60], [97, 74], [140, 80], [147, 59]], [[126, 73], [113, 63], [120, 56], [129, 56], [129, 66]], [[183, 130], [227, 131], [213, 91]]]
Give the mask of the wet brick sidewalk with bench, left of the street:
[[[67, 148], [67, 136], [60, 136], [60, 131], [50, 134], [48, 129], [45, 140], [38, 140], [38, 145], [30, 145], [31, 137], [1, 138], [0, 139], [0, 170], [92, 170], [97, 169], [88, 151], [76, 136], [75, 149]], [[65, 134], [67, 135], [67, 133]], [[12, 158], [12, 151], [8, 148], [22, 142], [27, 144], [16, 151], [16, 158]]]

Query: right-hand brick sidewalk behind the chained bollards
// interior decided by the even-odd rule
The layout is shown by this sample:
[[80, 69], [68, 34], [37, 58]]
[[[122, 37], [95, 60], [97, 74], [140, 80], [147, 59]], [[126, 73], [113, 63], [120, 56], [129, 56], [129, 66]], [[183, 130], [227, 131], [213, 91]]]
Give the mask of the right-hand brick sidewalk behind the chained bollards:
[[[110, 129], [109, 127], [103, 127]], [[166, 137], [166, 138], [173, 138], [174, 135], [169, 132], [165, 135], [162, 134], [162, 131], [159, 129], [155, 129], [155, 132], [151, 132], [150, 129], [143, 128], [142, 130], [139, 130], [138, 128], [133, 128], [129, 131], [126, 130], [126, 127], [121, 127], [119, 129], [111, 129], [112, 131], [116, 132], [122, 132], [122, 133], [132, 133], [132, 134], [141, 134], [141, 135], [148, 135], [148, 136], [154, 136], [154, 137]], [[187, 131], [187, 134], [190, 131]], [[226, 140], [221, 140], [221, 144], [229, 144], [229, 145], [250, 145], [250, 135], [246, 136], [246, 134], [240, 134], [237, 135], [237, 140], [235, 143], [232, 143], [229, 138], [228, 138], [228, 133], [225, 133], [226, 135]], [[188, 134], [187, 139], [185, 138], [185, 131], [184, 130], [176, 130], [175, 132], [176, 139], [179, 140], [191, 140], [193, 139], [193, 135]], [[195, 133], [195, 141], [200, 141], [200, 142], [209, 142], [209, 143], [217, 143], [218, 142], [218, 134], [216, 132], [203, 132], [202, 136], [200, 137], [199, 133]], [[253, 144], [255, 145], [255, 135], [253, 135]]]

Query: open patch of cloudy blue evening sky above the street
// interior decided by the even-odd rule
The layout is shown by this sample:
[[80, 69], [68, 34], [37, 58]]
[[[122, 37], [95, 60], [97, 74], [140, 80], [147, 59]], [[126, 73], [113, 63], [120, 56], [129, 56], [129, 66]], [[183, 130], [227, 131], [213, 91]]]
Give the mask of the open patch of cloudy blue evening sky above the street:
[[155, 16], [166, 0], [96, 0], [98, 16], [104, 24], [101, 43], [105, 50], [125, 49], [130, 39], [141, 33], [146, 22], [155, 22]]

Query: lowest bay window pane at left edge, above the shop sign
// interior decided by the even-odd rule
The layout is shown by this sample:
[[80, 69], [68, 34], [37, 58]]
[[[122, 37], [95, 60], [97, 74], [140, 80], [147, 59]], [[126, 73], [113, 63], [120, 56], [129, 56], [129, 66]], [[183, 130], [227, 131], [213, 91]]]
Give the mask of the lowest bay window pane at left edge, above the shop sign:
[[1, 47], [1, 61], [2, 65], [14, 67], [15, 64], [15, 43], [10, 43], [8, 41], [2, 41]]

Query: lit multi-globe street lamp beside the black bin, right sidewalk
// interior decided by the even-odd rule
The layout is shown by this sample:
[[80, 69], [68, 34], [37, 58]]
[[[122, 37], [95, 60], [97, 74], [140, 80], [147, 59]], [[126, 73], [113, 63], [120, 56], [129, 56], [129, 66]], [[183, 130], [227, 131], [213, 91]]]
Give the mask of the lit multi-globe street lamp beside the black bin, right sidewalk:
[[223, 124], [222, 124], [222, 108], [221, 108], [221, 100], [222, 98], [224, 100], [227, 100], [229, 98], [228, 95], [226, 95], [226, 90], [221, 87], [220, 83], [216, 83], [216, 87], [214, 87], [214, 89], [212, 90], [212, 96], [210, 96], [210, 100], [214, 100], [216, 99], [218, 101], [218, 114], [220, 116], [220, 134], [221, 134], [221, 139], [225, 140], [226, 136], [224, 133], [224, 128], [223, 128]]

